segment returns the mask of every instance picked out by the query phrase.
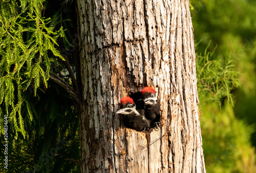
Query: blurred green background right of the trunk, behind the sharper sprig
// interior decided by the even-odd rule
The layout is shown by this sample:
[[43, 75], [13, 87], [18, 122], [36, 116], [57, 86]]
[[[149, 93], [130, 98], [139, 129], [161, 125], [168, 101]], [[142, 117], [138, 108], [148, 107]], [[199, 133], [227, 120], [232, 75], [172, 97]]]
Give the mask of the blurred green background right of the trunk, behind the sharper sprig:
[[256, 172], [256, 1], [193, 0], [190, 4], [197, 56], [205, 56], [210, 43], [207, 50], [215, 52], [211, 60], [223, 61], [223, 66], [225, 59], [231, 60], [233, 74], [237, 71], [239, 76], [230, 76], [241, 82], [240, 87], [229, 86], [233, 104], [230, 94], [217, 103], [205, 102], [208, 95], [200, 88], [204, 83], [198, 76], [206, 170]]

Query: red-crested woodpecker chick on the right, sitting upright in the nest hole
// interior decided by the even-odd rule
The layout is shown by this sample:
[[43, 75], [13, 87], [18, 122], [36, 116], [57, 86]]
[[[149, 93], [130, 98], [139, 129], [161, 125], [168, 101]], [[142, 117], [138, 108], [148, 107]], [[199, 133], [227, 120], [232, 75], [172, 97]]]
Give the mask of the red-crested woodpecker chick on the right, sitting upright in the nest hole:
[[141, 91], [145, 104], [145, 116], [150, 120], [150, 126], [160, 123], [160, 104], [157, 102], [156, 91], [151, 87], [144, 87]]

